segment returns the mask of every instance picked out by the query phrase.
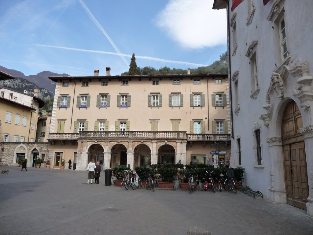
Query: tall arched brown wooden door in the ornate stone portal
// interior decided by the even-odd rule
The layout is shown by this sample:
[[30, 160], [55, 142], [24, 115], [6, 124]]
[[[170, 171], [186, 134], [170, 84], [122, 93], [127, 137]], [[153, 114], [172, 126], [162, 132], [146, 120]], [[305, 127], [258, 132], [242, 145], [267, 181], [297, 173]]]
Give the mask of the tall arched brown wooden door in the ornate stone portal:
[[292, 101], [285, 108], [282, 121], [282, 143], [287, 203], [306, 210], [309, 196], [308, 175], [305, 159], [303, 126], [297, 104]]

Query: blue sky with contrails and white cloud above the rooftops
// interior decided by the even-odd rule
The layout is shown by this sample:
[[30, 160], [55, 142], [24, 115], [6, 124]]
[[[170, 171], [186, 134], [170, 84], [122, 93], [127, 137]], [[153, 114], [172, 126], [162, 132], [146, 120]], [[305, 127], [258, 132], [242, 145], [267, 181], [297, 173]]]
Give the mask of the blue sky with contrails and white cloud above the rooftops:
[[198, 68], [227, 50], [226, 10], [213, 0], [0, 0], [0, 65], [93, 76]]

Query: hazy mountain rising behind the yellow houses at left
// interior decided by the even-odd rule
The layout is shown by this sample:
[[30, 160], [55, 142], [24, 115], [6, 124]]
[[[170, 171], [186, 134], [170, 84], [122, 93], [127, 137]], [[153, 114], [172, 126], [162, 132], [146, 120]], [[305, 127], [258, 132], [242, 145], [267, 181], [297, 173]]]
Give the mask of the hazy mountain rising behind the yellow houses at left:
[[39, 88], [43, 87], [45, 89], [47, 89], [48, 91], [51, 91], [51, 94], [54, 94], [55, 91], [55, 82], [51, 81], [49, 79], [49, 77], [52, 76], [70, 76], [66, 73], [63, 74], [58, 74], [58, 73], [53, 73], [50, 71], [43, 71], [40, 72], [36, 75], [29, 75], [29, 76], [25, 76], [22, 72], [18, 71], [18, 70], [14, 70], [14, 69], [8, 69], [6, 67], [3, 67], [0, 65], [0, 70], [12, 75], [13, 77], [19, 77], [19, 78], [23, 78], [26, 79], [34, 84], [36, 84]]

